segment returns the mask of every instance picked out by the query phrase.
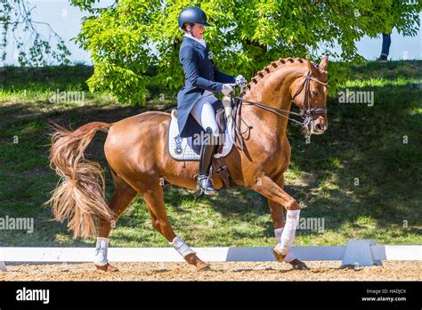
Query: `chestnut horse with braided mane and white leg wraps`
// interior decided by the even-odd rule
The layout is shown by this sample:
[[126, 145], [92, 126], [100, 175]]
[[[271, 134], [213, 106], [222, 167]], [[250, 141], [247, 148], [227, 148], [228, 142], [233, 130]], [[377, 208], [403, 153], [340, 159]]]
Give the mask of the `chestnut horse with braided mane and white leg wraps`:
[[[248, 136], [244, 135], [243, 150], [233, 147], [224, 158], [237, 185], [259, 192], [268, 199], [276, 235], [279, 232], [278, 246], [281, 244], [282, 248], [273, 249], [277, 260], [302, 270], [309, 268], [295, 257], [285, 260], [291, 253], [300, 210], [296, 200], [283, 191], [283, 174], [290, 161], [290, 144], [286, 135], [288, 111], [292, 102], [302, 111], [316, 110], [309, 115], [312, 133], [322, 134], [327, 129], [327, 66], [327, 57], [319, 65], [288, 58], [272, 61], [258, 72], [248, 84], [243, 99], [261, 102], [267, 108], [278, 109], [279, 113], [254, 104], [244, 104], [241, 115], [252, 129]], [[160, 180], [164, 178], [168, 184], [195, 189], [199, 165], [195, 161], [176, 161], [166, 151], [170, 118], [168, 113], [150, 111], [112, 124], [92, 122], [73, 132], [61, 126], [55, 128], [50, 159], [52, 167], [61, 176], [61, 184], [47, 203], [53, 206], [56, 220], [69, 220], [69, 230], [74, 232], [75, 238], [99, 237], [96, 255], [101, 257], [95, 265], [100, 270], [117, 271], [107, 260], [108, 238], [118, 217], [138, 194], [142, 195], [150, 211], [152, 227], [189, 264], [195, 265], [198, 270], [209, 269], [176, 236], [166, 214]], [[245, 127], [242, 124], [242, 132]], [[98, 130], [108, 133], [104, 151], [115, 184], [114, 196], [109, 204], [104, 200], [101, 167], [84, 157], [86, 147]], [[217, 175], [213, 174], [212, 179], [216, 189], [223, 187]], [[283, 208], [288, 210], [288, 215], [291, 212], [296, 217], [287, 216], [285, 222]], [[102, 252], [99, 254], [99, 251]]]

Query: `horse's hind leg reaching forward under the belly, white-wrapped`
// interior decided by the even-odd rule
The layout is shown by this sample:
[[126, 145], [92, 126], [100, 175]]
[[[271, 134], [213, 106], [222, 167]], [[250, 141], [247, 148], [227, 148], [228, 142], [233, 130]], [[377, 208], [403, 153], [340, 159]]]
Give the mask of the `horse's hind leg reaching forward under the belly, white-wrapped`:
[[150, 211], [152, 227], [161, 233], [177, 252], [191, 265], [195, 265], [197, 270], [208, 270], [209, 265], [197, 257], [196, 253], [184, 241], [176, 236], [172, 224], [168, 220], [166, 205], [164, 202], [163, 188], [157, 184], [154, 188], [142, 192], [143, 200]]

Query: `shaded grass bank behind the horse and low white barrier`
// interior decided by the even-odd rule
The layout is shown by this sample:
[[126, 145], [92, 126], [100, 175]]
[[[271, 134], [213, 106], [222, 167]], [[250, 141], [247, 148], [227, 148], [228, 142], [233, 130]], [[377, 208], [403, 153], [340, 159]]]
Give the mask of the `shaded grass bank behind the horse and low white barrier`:
[[[86, 91], [89, 67], [6, 68], [0, 74], [0, 217], [34, 217], [34, 233], [1, 231], [1, 246], [93, 246], [72, 240], [66, 224], [42, 207], [58, 181], [48, 163], [47, 123], [76, 128], [93, 120], [116, 121], [145, 110], [174, 106], [151, 92], [146, 107], [119, 105], [109, 94], [86, 95], [85, 104], [49, 102], [55, 89]], [[343, 88], [374, 92], [374, 105], [341, 104], [329, 97], [329, 131], [305, 143], [289, 126], [292, 161], [286, 191], [304, 207], [302, 218], [323, 218], [324, 232], [299, 229], [296, 245], [339, 245], [350, 238], [385, 244], [422, 244], [421, 141], [422, 61], [369, 62], [353, 66]], [[26, 93], [24, 92], [26, 90]], [[25, 94], [25, 95], [23, 95]], [[88, 149], [106, 167], [98, 134]], [[406, 140], [407, 139], [407, 140]], [[407, 142], [407, 143], [406, 143]], [[107, 176], [107, 195], [113, 188]], [[272, 246], [266, 200], [237, 188], [211, 198], [166, 186], [174, 230], [191, 246]], [[111, 233], [113, 246], [165, 247], [153, 231], [141, 197]]]

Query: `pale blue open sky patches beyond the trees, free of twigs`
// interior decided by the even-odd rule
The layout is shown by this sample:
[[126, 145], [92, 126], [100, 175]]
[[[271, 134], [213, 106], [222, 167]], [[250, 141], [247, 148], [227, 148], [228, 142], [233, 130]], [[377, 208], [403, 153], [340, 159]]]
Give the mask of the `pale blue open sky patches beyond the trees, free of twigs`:
[[[107, 6], [111, 3], [112, 1], [105, 0], [101, 1], [100, 5]], [[91, 63], [89, 53], [78, 48], [77, 45], [70, 41], [79, 32], [80, 20], [84, 16], [82, 12], [70, 6], [68, 0], [31, 0], [30, 4], [37, 6], [33, 11], [33, 19], [50, 23], [53, 29], [67, 42], [72, 53], [70, 56], [71, 61]], [[419, 17], [422, 20], [422, 13], [419, 14]], [[9, 40], [9, 42], [12, 42], [12, 40]], [[364, 37], [357, 43], [358, 51], [366, 59], [374, 60], [381, 51], [381, 42], [381, 37]], [[9, 52], [5, 61], [7, 64], [17, 64], [13, 47], [12, 44], [7, 46]], [[399, 60], [403, 59], [403, 57], [407, 57], [407, 59], [422, 59], [422, 31], [420, 29], [417, 37], [402, 37], [394, 29], [389, 58]]]

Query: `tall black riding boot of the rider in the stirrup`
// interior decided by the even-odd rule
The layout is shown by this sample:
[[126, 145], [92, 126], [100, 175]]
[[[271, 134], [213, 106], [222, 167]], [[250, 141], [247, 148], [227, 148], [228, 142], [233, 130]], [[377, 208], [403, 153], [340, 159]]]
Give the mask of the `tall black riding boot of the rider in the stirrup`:
[[207, 134], [209, 136], [208, 143], [202, 143], [200, 149], [199, 159], [199, 176], [197, 182], [197, 188], [204, 192], [206, 195], [215, 194], [215, 188], [211, 183], [211, 175], [209, 175], [209, 168], [213, 162], [215, 144], [212, 143], [212, 130], [207, 127]]

